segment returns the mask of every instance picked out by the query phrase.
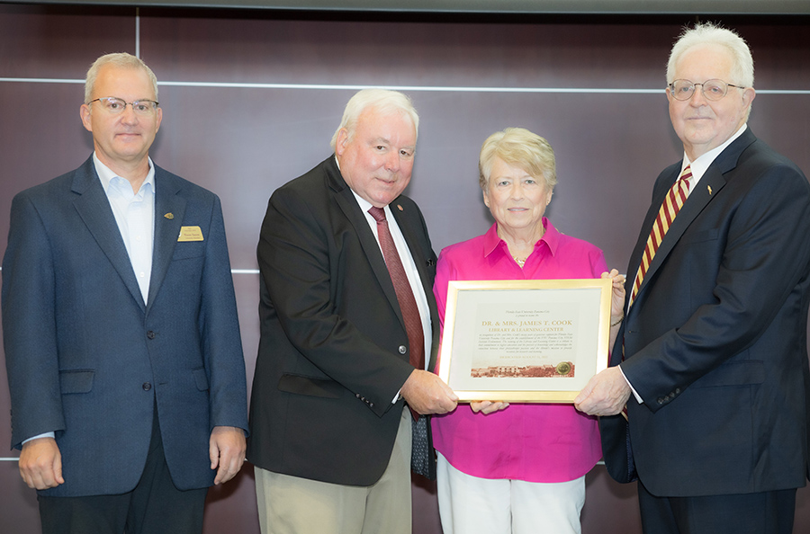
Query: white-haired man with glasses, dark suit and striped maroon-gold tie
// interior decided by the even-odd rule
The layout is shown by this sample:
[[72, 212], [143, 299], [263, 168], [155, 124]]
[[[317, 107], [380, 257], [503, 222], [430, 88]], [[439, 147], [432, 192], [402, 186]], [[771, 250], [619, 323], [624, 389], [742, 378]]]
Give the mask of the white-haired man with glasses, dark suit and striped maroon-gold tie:
[[[789, 534], [808, 474], [810, 184], [747, 127], [736, 33], [685, 31], [667, 82], [684, 160], [655, 182], [613, 367], [575, 402], [602, 415], [610, 474], [638, 479], [644, 532]], [[681, 174], [688, 197], [663, 223]]]

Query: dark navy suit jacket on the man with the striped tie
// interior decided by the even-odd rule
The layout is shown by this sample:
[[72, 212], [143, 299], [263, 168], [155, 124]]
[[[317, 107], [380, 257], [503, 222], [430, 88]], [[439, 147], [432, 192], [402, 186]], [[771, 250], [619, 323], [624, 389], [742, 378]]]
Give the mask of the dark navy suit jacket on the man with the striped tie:
[[[655, 182], [627, 269], [627, 295], [680, 163]], [[750, 129], [690, 192], [629, 310], [612, 365], [644, 398], [603, 417], [608, 470], [654, 495], [805, 485], [810, 185]]]

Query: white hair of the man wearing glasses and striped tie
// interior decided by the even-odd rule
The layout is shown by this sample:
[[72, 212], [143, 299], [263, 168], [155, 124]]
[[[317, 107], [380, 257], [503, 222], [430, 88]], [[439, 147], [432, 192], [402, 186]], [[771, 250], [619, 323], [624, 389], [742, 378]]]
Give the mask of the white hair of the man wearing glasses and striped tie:
[[[721, 28], [712, 22], [698, 22], [694, 28], [684, 28], [680, 37], [672, 46], [670, 61], [667, 64], [667, 85], [675, 79], [675, 65], [681, 56], [692, 47], [704, 44], [714, 44], [725, 47], [734, 58], [731, 76], [733, 79], [724, 80], [726, 83], [753, 87], [753, 58], [751, 49], [740, 35], [733, 30]], [[703, 82], [705, 80], [692, 80]]]

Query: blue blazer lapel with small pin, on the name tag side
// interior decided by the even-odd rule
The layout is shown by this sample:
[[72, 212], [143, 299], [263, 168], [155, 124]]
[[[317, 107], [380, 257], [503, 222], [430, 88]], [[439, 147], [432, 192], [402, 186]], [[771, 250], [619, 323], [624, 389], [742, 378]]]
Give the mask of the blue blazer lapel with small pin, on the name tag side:
[[185, 199], [179, 194], [181, 188], [181, 183], [173, 174], [155, 165], [155, 241], [152, 245], [148, 307], [155, 301], [157, 291], [166, 278], [180, 236], [185, 214]]

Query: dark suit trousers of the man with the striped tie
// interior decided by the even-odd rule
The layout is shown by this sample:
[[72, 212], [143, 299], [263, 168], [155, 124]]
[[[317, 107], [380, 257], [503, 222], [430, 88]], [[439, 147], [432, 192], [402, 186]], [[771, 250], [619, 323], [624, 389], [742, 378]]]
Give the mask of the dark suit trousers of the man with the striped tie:
[[645, 534], [792, 534], [796, 489], [656, 497], [639, 482], [638, 502]]

